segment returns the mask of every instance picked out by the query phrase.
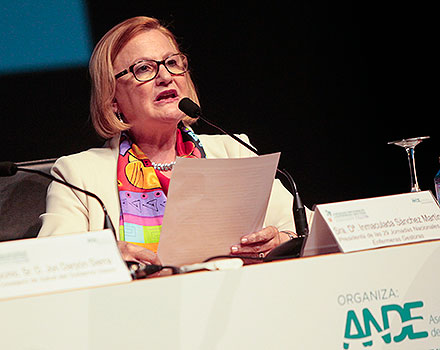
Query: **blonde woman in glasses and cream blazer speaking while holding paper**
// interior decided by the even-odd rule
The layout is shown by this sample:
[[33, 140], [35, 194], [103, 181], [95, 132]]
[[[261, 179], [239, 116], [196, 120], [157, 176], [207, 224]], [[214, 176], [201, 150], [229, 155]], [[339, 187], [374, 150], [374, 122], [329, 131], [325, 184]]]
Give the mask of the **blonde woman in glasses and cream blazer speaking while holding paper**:
[[[134, 17], [112, 28], [96, 45], [89, 69], [91, 117], [107, 142], [61, 157], [52, 174], [103, 200], [119, 226], [118, 247], [125, 260], [160, 264], [156, 251], [176, 158], [253, 154], [228, 136], [192, 131], [193, 119], [178, 108], [184, 97], [198, 102], [188, 59], [158, 20]], [[149, 205], [152, 200], [156, 205]], [[231, 253], [262, 257], [291, 239], [291, 208], [291, 194], [275, 180], [264, 228], [243, 232]], [[103, 212], [95, 199], [54, 182], [41, 218], [40, 237], [100, 230]]]

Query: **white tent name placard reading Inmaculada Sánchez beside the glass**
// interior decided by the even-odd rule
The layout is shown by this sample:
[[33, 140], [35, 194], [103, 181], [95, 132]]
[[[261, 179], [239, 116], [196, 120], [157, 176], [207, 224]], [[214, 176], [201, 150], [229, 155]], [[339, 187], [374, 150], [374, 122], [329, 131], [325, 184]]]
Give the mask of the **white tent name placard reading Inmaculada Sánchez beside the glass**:
[[430, 191], [320, 204], [304, 255], [440, 239], [440, 208]]

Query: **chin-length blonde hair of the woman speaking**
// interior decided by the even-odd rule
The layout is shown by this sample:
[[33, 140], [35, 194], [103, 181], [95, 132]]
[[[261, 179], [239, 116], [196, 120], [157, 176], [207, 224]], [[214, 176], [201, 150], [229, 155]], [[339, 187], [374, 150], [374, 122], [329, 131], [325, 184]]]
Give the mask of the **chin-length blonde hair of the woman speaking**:
[[[93, 50], [89, 63], [92, 80], [90, 115], [96, 132], [105, 139], [130, 128], [130, 124], [119, 120], [112, 107], [116, 90], [116, 79], [113, 71], [114, 60], [129, 40], [139, 33], [154, 29], [165, 34], [176, 50], [180, 52], [176, 38], [167, 28], [162, 26], [157, 19], [143, 16], [127, 19], [110, 29]], [[189, 72], [185, 74], [187, 74], [189, 98], [198, 103], [196, 88], [191, 76]], [[189, 125], [193, 122], [193, 119], [185, 117], [183, 122]]]

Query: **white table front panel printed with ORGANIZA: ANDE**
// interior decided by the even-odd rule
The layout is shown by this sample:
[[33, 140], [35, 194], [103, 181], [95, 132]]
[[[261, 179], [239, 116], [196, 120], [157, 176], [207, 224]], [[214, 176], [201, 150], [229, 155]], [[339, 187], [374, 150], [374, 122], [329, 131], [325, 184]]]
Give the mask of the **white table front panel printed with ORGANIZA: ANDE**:
[[0, 348], [440, 349], [439, 269], [433, 241], [3, 300]]

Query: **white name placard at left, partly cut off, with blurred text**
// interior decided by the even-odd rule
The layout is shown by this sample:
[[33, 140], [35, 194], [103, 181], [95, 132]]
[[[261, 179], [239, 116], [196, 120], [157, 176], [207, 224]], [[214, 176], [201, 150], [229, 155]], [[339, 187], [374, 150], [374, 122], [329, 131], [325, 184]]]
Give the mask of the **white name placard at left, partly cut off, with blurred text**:
[[129, 281], [110, 230], [0, 243], [0, 299]]

